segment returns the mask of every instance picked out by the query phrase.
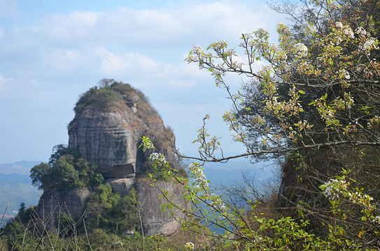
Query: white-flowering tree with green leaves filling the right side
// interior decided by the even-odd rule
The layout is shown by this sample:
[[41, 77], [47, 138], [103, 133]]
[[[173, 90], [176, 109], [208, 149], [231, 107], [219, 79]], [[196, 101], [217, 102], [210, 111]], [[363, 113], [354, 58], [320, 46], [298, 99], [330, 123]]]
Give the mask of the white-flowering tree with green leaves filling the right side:
[[[208, 134], [204, 122], [195, 140], [200, 144], [200, 155], [193, 159], [288, 158], [286, 165], [295, 170], [304, 196], [295, 195], [294, 199], [286, 195], [285, 188], [280, 195], [297, 206], [298, 220], [268, 220], [257, 211], [257, 204], [248, 212], [225, 204], [210, 192], [199, 163], [190, 165], [194, 182], [188, 184], [188, 180], [176, 177], [162, 161], [163, 156], [154, 157], [158, 166], [167, 169], [167, 175], [183, 185], [185, 198], [195, 204], [197, 210], [187, 212], [194, 219], [191, 224], [204, 220], [221, 227], [226, 230], [223, 238], [242, 249], [363, 250], [380, 245], [380, 216], [374, 202], [380, 199], [378, 189], [365, 191], [358, 186], [365, 181], [355, 185], [351, 178], [365, 174], [373, 176], [371, 182], [379, 182], [380, 172], [369, 168], [380, 162], [380, 23], [377, 15], [370, 15], [380, 6], [377, 1], [364, 0], [311, 3], [319, 10], [314, 16], [317, 22], [304, 24], [302, 36], [293, 36], [286, 24], [279, 24], [279, 43], [269, 43], [269, 33], [259, 29], [243, 34], [238, 49], [222, 40], [206, 50], [193, 47], [187, 59], [209, 70], [216, 85], [226, 89], [234, 112], [225, 112], [223, 119], [234, 140], [246, 146], [246, 153], [223, 155], [218, 151], [218, 137]], [[261, 69], [255, 70], [260, 65]], [[230, 73], [246, 76], [243, 91], [232, 93], [224, 81]], [[321, 163], [326, 167], [321, 163], [315, 167], [318, 155], [324, 157]], [[167, 197], [165, 192], [163, 196]], [[176, 205], [169, 203], [164, 208]], [[309, 215], [320, 220], [324, 235], [311, 234], [316, 225], [310, 227]]]

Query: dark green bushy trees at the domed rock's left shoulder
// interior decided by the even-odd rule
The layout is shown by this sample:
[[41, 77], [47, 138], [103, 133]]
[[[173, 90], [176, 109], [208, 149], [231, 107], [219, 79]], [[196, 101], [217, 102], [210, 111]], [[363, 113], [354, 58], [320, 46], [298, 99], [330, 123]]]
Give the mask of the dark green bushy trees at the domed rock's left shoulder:
[[97, 165], [80, 157], [78, 149], [60, 144], [53, 148], [49, 164], [41, 163], [30, 171], [32, 185], [39, 190], [95, 187], [103, 180]]

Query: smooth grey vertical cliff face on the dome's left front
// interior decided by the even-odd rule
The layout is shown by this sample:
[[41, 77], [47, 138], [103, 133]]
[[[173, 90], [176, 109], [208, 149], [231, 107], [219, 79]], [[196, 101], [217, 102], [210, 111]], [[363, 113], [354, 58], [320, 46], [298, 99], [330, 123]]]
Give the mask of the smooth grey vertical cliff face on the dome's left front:
[[85, 110], [77, 114], [69, 130], [69, 147], [78, 146], [83, 158], [97, 163], [106, 178], [132, 177], [136, 174], [137, 144], [145, 131], [130, 110]]

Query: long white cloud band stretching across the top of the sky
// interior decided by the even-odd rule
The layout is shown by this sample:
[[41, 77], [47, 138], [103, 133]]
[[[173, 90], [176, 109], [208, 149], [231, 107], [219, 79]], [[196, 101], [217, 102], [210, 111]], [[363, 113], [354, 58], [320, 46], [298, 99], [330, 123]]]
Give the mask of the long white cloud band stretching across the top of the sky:
[[248, 6], [238, 1], [216, 1], [159, 10], [74, 11], [50, 15], [34, 30], [52, 40], [78, 42], [118, 41], [134, 47], [170, 47], [178, 43], [210, 43], [240, 38], [259, 27], [274, 28], [265, 4]]

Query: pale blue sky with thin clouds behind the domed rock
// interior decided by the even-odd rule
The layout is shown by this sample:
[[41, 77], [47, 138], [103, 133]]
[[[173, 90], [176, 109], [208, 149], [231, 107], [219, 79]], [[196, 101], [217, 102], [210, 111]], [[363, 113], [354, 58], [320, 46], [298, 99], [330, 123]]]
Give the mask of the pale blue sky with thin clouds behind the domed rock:
[[[235, 47], [258, 28], [275, 35], [279, 22], [260, 0], [0, 0], [0, 163], [48, 160], [68, 142], [80, 94], [103, 78], [143, 91], [184, 153], [197, 152], [191, 142], [205, 114], [225, 153], [241, 151], [221, 119], [225, 91], [184, 59], [192, 45]], [[231, 77], [230, 86], [242, 81]]]

